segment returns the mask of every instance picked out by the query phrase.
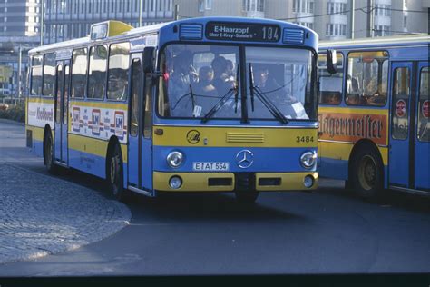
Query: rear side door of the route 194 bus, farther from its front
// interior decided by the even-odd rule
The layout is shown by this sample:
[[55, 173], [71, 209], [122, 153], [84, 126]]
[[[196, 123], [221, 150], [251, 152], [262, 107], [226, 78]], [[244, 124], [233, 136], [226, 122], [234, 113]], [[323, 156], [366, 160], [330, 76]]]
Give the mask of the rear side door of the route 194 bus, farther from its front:
[[69, 63], [58, 61], [55, 73], [54, 160], [67, 164]]

